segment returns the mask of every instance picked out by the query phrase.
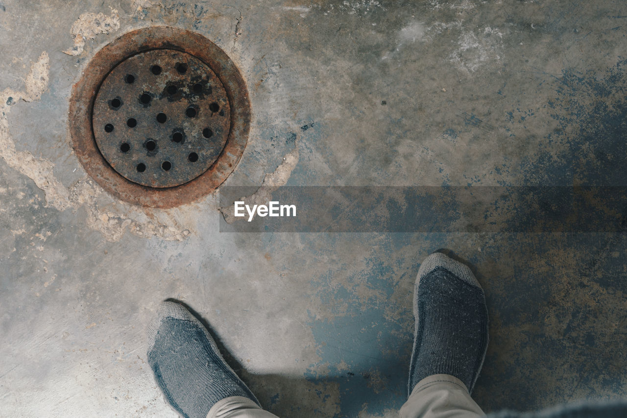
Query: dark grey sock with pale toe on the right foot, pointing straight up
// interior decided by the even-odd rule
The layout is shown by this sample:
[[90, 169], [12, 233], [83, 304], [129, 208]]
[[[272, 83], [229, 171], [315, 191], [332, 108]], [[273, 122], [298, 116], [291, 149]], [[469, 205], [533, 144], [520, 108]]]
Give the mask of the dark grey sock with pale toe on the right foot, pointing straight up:
[[488, 348], [488, 309], [470, 269], [444, 254], [429, 255], [418, 270], [414, 316], [409, 394], [437, 374], [455, 376], [472, 392]]

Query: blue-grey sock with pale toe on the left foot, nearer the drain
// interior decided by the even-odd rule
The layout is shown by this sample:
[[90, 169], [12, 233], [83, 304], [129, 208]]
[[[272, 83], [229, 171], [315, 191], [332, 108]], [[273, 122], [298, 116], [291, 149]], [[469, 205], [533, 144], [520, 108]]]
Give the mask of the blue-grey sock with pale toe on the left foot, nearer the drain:
[[184, 306], [164, 302], [148, 328], [148, 362], [167, 402], [185, 418], [205, 418], [229, 396], [259, 404], [224, 362], [203, 324]]

